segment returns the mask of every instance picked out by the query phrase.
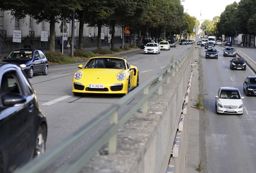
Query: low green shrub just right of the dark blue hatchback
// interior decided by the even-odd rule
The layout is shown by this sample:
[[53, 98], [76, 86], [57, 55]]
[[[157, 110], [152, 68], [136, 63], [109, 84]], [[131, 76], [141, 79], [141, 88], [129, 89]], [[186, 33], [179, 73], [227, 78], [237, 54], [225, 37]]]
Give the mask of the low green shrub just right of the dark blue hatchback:
[[57, 64], [68, 64], [68, 63], [76, 63], [77, 61], [70, 56], [66, 56], [57, 52], [46, 52], [45, 56], [48, 62], [57, 63]]

